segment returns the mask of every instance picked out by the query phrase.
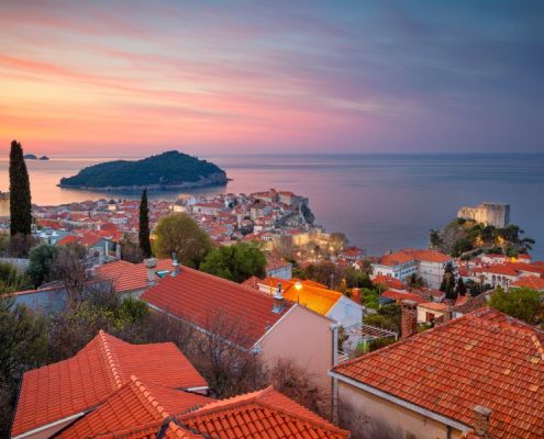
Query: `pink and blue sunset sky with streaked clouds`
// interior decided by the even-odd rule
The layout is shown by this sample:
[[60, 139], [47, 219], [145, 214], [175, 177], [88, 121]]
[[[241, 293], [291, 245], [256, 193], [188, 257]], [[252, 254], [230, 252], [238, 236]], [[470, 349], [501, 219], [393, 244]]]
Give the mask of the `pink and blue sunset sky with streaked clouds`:
[[0, 0], [0, 153], [544, 151], [544, 2]]

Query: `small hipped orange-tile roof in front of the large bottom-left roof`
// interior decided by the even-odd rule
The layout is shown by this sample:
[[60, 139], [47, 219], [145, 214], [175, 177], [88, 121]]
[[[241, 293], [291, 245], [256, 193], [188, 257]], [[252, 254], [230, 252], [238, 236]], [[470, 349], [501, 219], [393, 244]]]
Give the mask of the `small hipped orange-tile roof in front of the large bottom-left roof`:
[[203, 395], [156, 384], [143, 384], [132, 375], [100, 407], [88, 413], [57, 437], [59, 439], [91, 438], [134, 429], [135, 426], [146, 426], [142, 430], [149, 429], [157, 432], [162, 424], [158, 421], [195, 410], [211, 402], [212, 398]]

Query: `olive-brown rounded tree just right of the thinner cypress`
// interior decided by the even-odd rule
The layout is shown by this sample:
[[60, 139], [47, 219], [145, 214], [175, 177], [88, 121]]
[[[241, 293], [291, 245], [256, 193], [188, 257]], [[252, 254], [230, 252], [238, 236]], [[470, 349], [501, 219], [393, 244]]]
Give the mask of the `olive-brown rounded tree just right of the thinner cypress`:
[[210, 236], [197, 222], [185, 213], [164, 216], [155, 227], [154, 254], [158, 258], [170, 258], [189, 267], [199, 267], [212, 248]]

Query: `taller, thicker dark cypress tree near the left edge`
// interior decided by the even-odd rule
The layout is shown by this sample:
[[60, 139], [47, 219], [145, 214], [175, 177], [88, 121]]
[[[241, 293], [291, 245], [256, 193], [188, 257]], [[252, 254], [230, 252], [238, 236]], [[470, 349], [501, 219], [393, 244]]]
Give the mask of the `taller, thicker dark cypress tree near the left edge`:
[[29, 172], [23, 158], [23, 148], [16, 140], [10, 150], [10, 215], [11, 236], [30, 235], [32, 226], [32, 203]]

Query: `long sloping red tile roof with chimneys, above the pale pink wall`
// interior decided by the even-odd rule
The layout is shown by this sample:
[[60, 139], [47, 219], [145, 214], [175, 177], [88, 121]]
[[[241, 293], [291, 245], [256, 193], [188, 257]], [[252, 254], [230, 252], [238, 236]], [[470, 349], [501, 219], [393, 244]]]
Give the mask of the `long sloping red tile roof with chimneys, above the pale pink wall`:
[[166, 277], [148, 289], [141, 297], [151, 305], [211, 329], [218, 316], [241, 325], [244, 340], [231, 340], [251, 348], [292, 306], [286, 301], [284, 311], [273, 312], [270, 295], [218, 278], [202, 271], [182, 267], [176, 277]]

